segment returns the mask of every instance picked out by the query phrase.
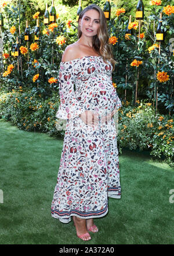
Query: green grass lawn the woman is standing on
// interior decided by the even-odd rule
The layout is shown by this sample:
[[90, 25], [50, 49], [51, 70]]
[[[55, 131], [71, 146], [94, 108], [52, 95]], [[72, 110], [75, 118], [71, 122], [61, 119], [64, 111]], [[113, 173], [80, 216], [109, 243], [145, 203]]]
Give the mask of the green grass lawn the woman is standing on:
[[82, 241], [73, 222], [52, 218], [50, 205], [63, 140], [0, 120], [0, 244], [174, 244], [174, 170], [148, 156], [119, 156], [122, 196], [96, 219], [99, 233]]

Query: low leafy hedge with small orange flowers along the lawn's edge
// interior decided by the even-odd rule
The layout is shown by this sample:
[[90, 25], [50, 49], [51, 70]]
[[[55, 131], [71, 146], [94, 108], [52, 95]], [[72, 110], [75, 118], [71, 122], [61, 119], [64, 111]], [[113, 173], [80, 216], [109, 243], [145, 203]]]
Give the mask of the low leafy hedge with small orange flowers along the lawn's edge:
[[[56, 130], [56, 111], [59, 108], [59, 95], [52, 94], [42, 99], [32, 91], [12, 91], [0, 95], [0, 115], [3, 120], [10, 120], [19, 129], [41, 131], [50, 136], [61, 136], [64, 131]], [[122, 102], [119, 109], [118, 145], [130, 150], [150, 150], [154, 157], [165, 157], [165, 162], [173, 165], [173, 120], [174, 115], [161, 116], [146, 101], [137, 101], [131, 106]]]

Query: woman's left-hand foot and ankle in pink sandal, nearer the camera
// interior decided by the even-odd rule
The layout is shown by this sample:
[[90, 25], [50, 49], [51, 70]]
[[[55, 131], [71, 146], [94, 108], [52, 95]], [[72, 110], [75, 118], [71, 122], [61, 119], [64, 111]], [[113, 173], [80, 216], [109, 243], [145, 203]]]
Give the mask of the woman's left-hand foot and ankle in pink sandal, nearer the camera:
[[76, 228], [76, 232], [77, 232], [77, 236], [82, 236], [83, 234], [86, 234], [85, 236], [79, 237], [82, 240], [90, 240], [91, 237], [88, 233], [88, 230], [86, 229], [86, 219], [81, 219], [78, 217], [73, 216], [74, 219], [74, 223], [75, 223], [75, 228]]

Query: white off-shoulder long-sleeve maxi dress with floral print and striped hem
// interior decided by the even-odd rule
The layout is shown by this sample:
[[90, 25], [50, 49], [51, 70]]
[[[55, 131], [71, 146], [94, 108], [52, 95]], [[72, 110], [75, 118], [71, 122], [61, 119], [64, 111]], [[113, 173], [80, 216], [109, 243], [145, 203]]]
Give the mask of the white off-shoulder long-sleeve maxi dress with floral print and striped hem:
[[56, 117], [67, 123], [51, 214], [63, 223], [71, 216], [102, 217], [108, 212], [108, 197], [121, 198], [114, 118], [89, 126], [79, 117], [92, 111], [101, 118], [121, 107], [112, 69], [102, 56], [60, 62]]

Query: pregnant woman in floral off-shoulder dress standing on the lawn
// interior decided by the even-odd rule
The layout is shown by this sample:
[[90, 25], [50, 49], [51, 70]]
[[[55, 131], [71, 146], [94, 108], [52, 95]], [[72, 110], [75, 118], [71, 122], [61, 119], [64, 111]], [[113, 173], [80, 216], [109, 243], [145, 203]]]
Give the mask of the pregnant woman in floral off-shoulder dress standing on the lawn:
[[113, 120], [121, 101], [112, 84], [115, 61], [99, 6], [82, 10], [78, 37], [65, 49], [60, 63], [56, 116], [67, 120], [67, 126], [52, 216], [63, 223], [73, 217], [77, 236], [90, 240], [88, 232], [98, 232], [93, 218], [108, 212], [108, 197], [121, 197]]

